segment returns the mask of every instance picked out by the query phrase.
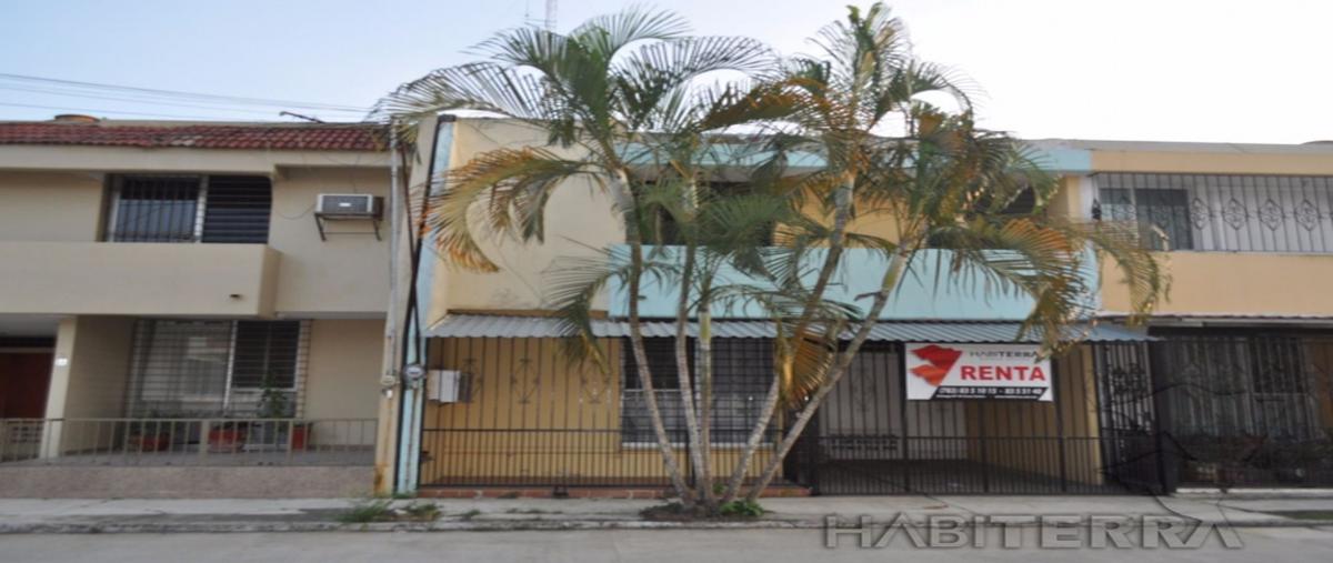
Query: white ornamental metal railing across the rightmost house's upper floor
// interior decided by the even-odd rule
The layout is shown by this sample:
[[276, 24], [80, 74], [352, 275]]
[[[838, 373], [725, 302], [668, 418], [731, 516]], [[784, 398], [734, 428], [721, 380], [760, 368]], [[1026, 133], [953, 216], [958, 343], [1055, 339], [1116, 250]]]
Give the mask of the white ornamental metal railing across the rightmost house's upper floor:
[[1100, 173], [1096, 213], [1148, 248], [1333, 252], [1333, 177]]

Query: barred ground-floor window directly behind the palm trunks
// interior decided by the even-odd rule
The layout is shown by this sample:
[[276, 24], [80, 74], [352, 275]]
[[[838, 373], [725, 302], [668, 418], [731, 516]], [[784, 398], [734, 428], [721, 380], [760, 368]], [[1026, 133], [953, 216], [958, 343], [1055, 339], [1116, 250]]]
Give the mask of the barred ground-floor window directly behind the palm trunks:
[[[689, 342], [690, 372], [697, 378], [697, 347]], [[652, 370], [657, 407], [672, 442], [685, 443], [689, 436], [680, 400], [680, 380], [676, 363], [676, 339], [644, 339], [648, 364]], [[639, 382], [637, 363], [629, 339], [621, 342], [623, 392], [621, 442], [653, 443], [652, 419]], [[773, 378], [772, 342], [768, 339], [714, 339], [713, 340], [713, 407], [709, 442], [713, 444], [744, 443], [760, 416], [760, 404]], [[697, 382], [696, 382], [697, 383]], [[697, 386], [696, 386], [697, 391]]]

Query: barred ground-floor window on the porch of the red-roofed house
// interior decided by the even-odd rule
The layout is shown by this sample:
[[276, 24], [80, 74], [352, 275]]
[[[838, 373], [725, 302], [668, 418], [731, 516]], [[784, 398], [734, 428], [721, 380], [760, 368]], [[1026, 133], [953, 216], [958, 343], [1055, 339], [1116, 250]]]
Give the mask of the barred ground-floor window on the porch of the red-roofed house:
[[140, 320], [129, 415], [253, 415], [268, 392], [295, 416], [304, 335], [296, 320]]

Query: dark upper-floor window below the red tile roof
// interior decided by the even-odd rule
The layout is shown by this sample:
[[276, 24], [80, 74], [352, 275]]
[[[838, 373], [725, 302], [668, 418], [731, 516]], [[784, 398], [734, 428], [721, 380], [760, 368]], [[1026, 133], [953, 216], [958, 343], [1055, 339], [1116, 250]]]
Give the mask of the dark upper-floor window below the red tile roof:
[[115, 176], [107, 240], [267, 243], [272, 185], [260, 176]]

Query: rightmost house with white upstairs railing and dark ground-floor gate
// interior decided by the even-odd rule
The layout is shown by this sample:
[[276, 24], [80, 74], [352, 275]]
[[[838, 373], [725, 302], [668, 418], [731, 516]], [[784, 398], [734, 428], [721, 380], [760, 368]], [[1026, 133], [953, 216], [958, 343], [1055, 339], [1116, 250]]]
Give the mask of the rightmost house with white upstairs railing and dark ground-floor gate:
[[[1165, 487], [1333, 483], [1333, 144], [1044, 145], [1085, 164], [1084, 216], [1137, 223], [1173, 276], [1149, 356], [1105, 378], [1164, 436]], [[1152, 390], [1121, 384], [1144, 370]]]

